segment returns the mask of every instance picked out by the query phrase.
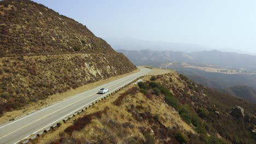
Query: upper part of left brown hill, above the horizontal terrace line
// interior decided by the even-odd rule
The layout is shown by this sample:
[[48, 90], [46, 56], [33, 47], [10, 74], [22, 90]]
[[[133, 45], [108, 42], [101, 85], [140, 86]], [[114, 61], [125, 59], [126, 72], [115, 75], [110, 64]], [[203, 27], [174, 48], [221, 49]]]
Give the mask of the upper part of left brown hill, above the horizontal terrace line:
[[[86, 26], [32, 1], [2, 1], [1, 52], [115, 52]], [[5, 5], [5, 6], [4, 6]]]

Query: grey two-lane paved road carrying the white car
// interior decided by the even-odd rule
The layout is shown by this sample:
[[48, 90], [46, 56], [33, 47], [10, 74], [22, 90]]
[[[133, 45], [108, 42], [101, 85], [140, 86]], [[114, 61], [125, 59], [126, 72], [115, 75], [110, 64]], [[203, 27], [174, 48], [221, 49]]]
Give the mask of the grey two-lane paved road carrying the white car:
[[[74, 112], [90, 105], [95, 100], [123, 87], [137, 77], [145, 75], [150, 71], [150, 69], [147, 68], [139, 69], [141, 69], [141, 71], [138, 73], [106, 83], [90, 91], [73, 95], [71, 98], [60, 101], [57, 104], [34, 111], [30, 115], [15, 119], [15, 121], [0, 125], [0, 143], [18, 143], [31, 134], [37, 134], [51, 127], [53, 124], [62, 121], [67, 118], [67, 116], [73, 115]], [[102, 87], [108, 88], [109, 92], [106, 94], [97, 94], [98, 90]]]

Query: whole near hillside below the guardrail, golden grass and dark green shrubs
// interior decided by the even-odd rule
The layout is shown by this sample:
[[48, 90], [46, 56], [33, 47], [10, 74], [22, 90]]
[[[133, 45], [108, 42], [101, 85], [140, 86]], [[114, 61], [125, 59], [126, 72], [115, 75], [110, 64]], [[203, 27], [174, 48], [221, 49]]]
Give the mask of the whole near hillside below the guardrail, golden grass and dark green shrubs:
[[171, 71], [145, 77], [32, 142], [255, 143], [255, 113], [255, 104]]

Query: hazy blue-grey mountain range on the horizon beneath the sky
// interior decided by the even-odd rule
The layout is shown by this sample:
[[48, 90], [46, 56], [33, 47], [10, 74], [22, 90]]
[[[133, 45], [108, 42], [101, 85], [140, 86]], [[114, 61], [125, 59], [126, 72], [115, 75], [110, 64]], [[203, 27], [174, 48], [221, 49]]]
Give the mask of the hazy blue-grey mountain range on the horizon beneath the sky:
[[153, 51], [153, 50], [117, 50], [124, 53], [131, 62], [136, 65], [152, 63], [154, 67], [170, 62], [192, 62], [201, 64], [211, 64], [224, 68], [237, 68], [256, 70], [256, 56], [235, 52], [222, 51], [198, 51], [198, 52], [177, 52], [177, 51]]

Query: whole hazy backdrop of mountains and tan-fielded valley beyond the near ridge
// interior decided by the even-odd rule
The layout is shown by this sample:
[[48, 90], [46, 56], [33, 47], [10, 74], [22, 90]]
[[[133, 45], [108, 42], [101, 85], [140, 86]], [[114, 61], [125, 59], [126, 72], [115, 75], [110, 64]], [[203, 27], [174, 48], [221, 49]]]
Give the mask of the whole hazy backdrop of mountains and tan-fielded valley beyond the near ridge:
[[[177, 70], [203, 86], [219, 89], [245, 100], [256, 101], [255, 56], [220, 51], [174, 52], [118, 50], [137, 65]], [[235, 59], [232, 61], [232, 59]], [[240, 61], [240, 62], [237, 62]], [[251, 64], [251, 65], [250, 65]], [[233, 87], [233, 88], [232, 88]], [[234, 87], [238, 88], [236, 92]], [[246, 90], [245, 91], [245, 87]], [[251, 88], [249, 88], [251, 87]]]

